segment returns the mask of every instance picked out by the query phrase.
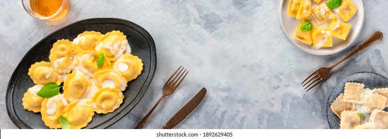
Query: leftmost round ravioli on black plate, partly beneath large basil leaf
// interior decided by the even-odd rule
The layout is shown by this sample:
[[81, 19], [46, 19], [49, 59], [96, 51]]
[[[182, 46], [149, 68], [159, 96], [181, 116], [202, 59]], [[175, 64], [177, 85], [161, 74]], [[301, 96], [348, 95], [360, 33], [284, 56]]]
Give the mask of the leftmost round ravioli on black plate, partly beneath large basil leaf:
[[42, 89], [43, 86], [43, 84], [35, 85], [24, 93], [24, 97], [21, 99], [21, 101], [23, 101], [24, 109], [35, 113], [40, 112], [44, 98], [38, 96], [37, 93], [40, 89]]

